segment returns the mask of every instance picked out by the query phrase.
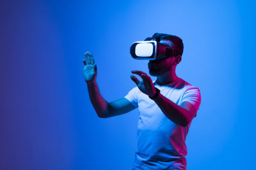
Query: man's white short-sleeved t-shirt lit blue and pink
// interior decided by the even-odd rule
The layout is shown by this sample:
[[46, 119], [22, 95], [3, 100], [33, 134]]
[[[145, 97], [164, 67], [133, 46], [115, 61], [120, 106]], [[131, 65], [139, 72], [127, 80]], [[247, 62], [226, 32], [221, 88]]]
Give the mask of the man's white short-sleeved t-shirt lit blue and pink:
[[[158, 85], [153, 81], [164, 97], [180, 105], [188, 101], [199, 109], [200, 90], [182, 78], [168, 84]], [[186, 127], [168, 119], [159, 106], [147, 94], [134, 87], [125, 98], [140, 113], [137, 131], [137, 150], [133, 164], [134, 170], [186, 169], [186, 136], [191, 122]]]

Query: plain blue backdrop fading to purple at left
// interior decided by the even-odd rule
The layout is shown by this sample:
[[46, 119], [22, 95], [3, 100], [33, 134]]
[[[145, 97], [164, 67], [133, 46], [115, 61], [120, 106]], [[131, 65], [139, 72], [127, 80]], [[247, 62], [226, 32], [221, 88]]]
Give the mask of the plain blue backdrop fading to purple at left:
[[[186, 139], [188, 169], [253, 169], [255, 1], [0, 1], [0, 169], [131, 170], [138, 109], [97, 117], [84, 52], [109, 102], [147, 62], [129, 47], [154, 32], [184, 42], [177, 76], [202, 103]], [[156, 80], [156, 77], [152, 77]]]

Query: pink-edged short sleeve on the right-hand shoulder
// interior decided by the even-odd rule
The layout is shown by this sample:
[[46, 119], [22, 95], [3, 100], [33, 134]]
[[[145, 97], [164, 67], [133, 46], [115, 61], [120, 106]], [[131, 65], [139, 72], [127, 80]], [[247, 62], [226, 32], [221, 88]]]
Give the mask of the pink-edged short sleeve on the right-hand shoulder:
[[197, 112], [201, 103], [200, 90], [197, 87], [187, 89], [182, 96], [182, 102], [184, 101], [188, 101], [193, 104]]

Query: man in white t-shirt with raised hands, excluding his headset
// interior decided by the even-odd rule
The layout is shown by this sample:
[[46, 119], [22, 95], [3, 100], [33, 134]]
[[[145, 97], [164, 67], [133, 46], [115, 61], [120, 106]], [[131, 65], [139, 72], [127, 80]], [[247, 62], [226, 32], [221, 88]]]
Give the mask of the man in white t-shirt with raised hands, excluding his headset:
[[175, 69], [182, 59], [182, 39], [169, 34], [156, 33], [152, 38], [167, 43], [175, 49], [175, 55], [167, 59], [149, 60], [151, 76], [142, 71], [132, 71], [142, 78], [131, 76], [136, 83], [122, 99], [108, 103], [99, 92], [96, 83], [97, 66], [90, 52], [85, 53], [83, 76], [88, 86], [90, 100], [100, 118], [122, 115], [139, 109], [138, 148], [133, 169], [186, 169], [186, 135], [191, 121], [201, 103], [200, 90], [177, 77]]

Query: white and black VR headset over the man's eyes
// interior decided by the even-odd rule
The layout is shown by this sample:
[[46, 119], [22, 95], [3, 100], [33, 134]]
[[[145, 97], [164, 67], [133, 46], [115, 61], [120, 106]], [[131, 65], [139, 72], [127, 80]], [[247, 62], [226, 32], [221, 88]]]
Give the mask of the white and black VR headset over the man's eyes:
[[137, 60], [167, 59], [175, 56], [175, 49], [157, 41], [136, 41], [132, 43], [130, 53]]

